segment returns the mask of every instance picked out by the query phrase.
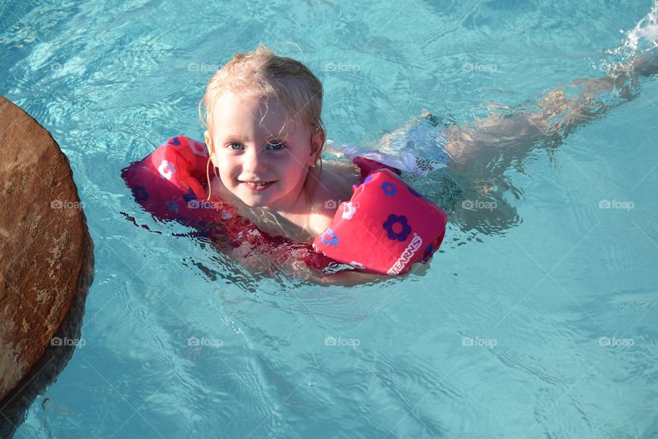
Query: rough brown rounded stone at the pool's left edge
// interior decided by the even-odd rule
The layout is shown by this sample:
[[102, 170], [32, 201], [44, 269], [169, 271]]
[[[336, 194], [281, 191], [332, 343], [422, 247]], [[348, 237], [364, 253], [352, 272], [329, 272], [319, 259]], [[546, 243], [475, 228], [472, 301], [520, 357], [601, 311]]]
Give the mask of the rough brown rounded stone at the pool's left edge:
[[77, 316], [78, 330], [67, 333], [79, 333], [93, 265], [69, 161], [45, 128], [0, 97], [0, 409], [34, 377], [65, 316]]

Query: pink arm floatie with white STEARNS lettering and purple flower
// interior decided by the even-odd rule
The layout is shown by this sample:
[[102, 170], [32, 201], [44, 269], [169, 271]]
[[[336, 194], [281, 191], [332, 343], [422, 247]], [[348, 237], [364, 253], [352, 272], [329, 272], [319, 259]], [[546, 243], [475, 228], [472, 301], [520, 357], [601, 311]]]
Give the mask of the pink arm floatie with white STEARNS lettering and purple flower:
[[390, 169], [371, 171], [352, 189], [314, 250], [360, 270], [401, 274], [441, 245], [448, 215]]

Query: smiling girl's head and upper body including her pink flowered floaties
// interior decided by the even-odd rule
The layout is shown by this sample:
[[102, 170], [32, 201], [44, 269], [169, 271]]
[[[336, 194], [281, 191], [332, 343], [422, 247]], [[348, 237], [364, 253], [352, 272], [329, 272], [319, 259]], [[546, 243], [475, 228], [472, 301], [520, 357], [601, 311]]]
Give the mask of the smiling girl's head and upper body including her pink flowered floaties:
[[322, 97], [301, 62], [262, 45], [236, 54], [208, 84], [205, 145], [174, 137], [123, 178], [147, 211], [228, 240], [234, 256], [267, 272], [285, 266], [308, 277], [307, 268], [331, 272], [340, 262], [402, 274], [425, 263], [446, 213], [382, 155], [323, 166]]

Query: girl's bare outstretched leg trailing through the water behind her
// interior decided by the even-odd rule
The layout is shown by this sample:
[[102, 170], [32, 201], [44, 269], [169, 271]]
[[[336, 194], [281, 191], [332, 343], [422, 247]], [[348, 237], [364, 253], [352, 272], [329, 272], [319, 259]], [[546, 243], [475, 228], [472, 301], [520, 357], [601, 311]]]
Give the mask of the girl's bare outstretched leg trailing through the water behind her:
[[[504, 171], [512, 161], [519, 163], [538, 141], [561, 143], [575, 128], [598, 119], [612, 108], [635, 99], [637, 79], [658, 73], [658, 56], [635, 58], [606, 78], [578, 79], [569, 88], [548, 93], [535, 112], [493, 113], [476, 119], [471, 126], [450, 126], [446, 131], [446, 150], [454, 158], [449, 171], [495, 168]], [[524, 105], [527, 106], [527, 103]]]

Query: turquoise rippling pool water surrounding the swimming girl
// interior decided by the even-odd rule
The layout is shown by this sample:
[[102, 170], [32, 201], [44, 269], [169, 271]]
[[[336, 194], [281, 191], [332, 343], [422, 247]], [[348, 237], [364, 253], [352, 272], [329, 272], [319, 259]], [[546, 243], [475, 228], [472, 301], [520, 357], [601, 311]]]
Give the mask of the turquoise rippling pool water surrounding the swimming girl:
[[201, 139], [212, 71], [258, 43], [323, 81], [330, 139], [372, 145], [425, 108], [467, 125], [600, 78], [652, 47], [655, 1], [210, 3], [0, 5], [0, 94], [69, 157], [96, 257], [84, 346], [15, 437], [658, 437], [655, 78], [467, 182], [509, 187], [504, 222], [467, 212], [450, 176], [417, 180], [446, 240], [374, 285], [254, 277], [119, 176]]

